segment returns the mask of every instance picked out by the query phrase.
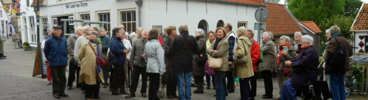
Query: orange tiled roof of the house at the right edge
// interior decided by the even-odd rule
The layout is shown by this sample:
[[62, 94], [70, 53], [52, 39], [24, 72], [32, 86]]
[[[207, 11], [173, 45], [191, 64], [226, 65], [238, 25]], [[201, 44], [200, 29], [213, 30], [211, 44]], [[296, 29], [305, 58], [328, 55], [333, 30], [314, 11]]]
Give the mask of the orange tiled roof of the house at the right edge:
[[368, 30], [368, 4], [364, 4], [351, 30]]

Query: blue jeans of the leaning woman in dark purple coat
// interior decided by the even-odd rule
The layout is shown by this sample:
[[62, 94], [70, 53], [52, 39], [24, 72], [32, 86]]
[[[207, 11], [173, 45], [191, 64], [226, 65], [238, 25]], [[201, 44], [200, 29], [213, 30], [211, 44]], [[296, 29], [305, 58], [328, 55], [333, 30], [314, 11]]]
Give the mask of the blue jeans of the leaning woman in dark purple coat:
[[284, 82], [280, 96], [281, 100], [297, 100], [295, 90], [297, 90], [300, 85], [291, 85], [290, 80], [291, 78]]

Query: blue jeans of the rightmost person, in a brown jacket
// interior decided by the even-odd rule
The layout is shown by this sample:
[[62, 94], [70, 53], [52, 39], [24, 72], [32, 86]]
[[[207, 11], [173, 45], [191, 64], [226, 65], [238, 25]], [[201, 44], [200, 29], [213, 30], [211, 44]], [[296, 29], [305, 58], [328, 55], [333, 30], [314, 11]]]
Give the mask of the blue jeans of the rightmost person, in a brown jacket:
[[330, 91], [332, 100], [345, 100], [344, 89], [345, 72], [330, 72]]

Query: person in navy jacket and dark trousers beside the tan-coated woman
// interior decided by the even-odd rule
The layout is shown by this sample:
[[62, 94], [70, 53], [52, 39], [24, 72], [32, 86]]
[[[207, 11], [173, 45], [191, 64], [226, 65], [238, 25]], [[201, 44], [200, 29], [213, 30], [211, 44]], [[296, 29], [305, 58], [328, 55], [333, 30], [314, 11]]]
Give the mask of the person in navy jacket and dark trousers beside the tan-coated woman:
[[[123, 42], [121, 42], [120, 36], [122, 31], [120, 28], [113, 29], [113, 36], [110, 41], [110, 51], [116, 57], [116, 62], [113, 63], [113, 79], [111, 86], [112, 86], [112, 95], [123, 95], [125, 92], [124, 90], [124, 80], [125, 80], [125, 71], [124, 71], [124, 63], [127, 54], [127, 50], [125, 50]], [[120, 92], [118, 89], [120, 88]], [[124, 94], [127, 94], [126, 92]]]

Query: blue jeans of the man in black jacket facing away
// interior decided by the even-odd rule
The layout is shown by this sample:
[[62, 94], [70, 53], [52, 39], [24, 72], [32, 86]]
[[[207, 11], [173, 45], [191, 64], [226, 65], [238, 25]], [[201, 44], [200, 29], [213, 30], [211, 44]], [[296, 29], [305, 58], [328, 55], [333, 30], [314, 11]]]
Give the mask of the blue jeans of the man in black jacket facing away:
[[[184, 96], [186, 100], [191, 99], [191, 96], [192, 96], [192, 90], [190, 87], [191, 76], [192, 76], [192, 72], [177, 72], [176, 73], [176, 82], [178, 85], [178, 93], [179, 93], [178, 99], [179, 100], [184, 100]], [[185, 93], [184, 93], [184, 86], [183, 86], [183, 78], [185, 82]]]

